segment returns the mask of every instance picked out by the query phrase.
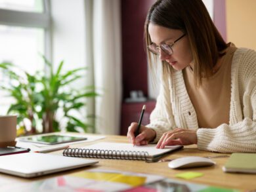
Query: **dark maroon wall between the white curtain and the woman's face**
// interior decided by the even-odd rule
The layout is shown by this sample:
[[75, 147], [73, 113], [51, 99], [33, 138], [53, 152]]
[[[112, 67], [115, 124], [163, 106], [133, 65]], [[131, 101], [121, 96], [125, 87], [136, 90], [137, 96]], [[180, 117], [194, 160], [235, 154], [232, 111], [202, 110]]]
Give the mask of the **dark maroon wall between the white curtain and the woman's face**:
[[144, 50], [144, 22], [154, 0], [122, 0], [122, 63], [123, 98], [131, 90], [142, 90], [148, 96], [146, 51]]

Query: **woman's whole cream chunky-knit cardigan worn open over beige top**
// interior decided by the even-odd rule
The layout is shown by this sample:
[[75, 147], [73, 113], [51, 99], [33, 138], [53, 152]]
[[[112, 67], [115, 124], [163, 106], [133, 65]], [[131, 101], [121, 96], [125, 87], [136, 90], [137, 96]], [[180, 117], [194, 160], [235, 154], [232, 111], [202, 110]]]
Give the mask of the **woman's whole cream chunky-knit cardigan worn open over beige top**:
[[256, 52], [238, 48], [231, 67], [229, 125], [199, 128], [196, 111], [186, 91], [182, 71], [161, 80], [160, 95], [150, 115], [156, 139], [174, 128], [197, 130], [198, 149], [222, 153], [256, 152]]

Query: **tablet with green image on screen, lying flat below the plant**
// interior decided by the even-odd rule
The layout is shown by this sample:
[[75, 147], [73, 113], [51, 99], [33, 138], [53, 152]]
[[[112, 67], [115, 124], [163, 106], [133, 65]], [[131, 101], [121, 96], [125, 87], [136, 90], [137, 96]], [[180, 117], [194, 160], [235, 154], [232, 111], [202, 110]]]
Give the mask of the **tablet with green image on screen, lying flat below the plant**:
[[20, 138], [21, 142], [33, 142], [37, 144], [47, 144], [47, 145], [55, 145], [55, 144], [63, 144], [68, 142], [77, 142], [87, 140], [85, 137], [79, 136], [64, 136], [64, 135], [38, 135], [38, 136], [28, 136], [26, 138]]

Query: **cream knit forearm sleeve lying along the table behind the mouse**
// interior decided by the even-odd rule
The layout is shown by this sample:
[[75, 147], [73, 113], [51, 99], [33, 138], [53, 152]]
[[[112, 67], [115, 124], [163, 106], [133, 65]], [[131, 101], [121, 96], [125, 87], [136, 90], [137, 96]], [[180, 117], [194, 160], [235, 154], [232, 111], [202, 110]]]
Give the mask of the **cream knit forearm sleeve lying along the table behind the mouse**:
[[256, 152], [256, 122], [249, 118], [232, 126], [200, 128], [197, 134], [198, 149], [221, 153]]

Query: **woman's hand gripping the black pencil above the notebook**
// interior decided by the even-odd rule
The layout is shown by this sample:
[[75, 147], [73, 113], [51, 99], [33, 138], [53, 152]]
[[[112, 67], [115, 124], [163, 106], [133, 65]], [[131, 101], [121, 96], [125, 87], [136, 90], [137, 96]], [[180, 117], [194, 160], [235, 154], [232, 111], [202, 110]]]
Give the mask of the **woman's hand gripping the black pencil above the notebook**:
[[156, 132], [152, 128], [140, 125], [140, 133], [135, 138], [135, 131], [137, 130], [137, 127], [138, 123], [131, 123], [127, 132], [127, 138], [133, 145], [147, 145], [156, 137]]

